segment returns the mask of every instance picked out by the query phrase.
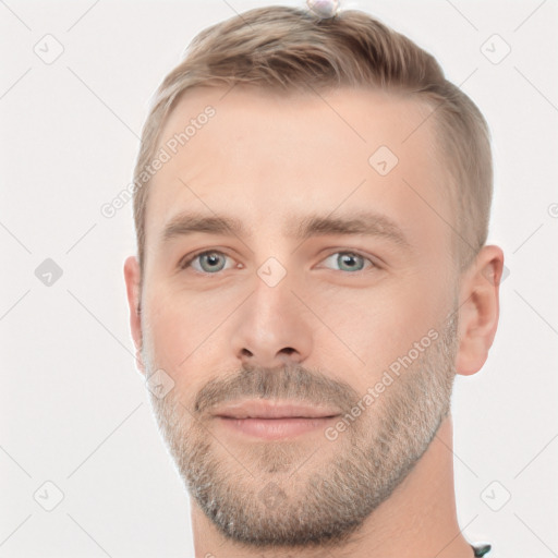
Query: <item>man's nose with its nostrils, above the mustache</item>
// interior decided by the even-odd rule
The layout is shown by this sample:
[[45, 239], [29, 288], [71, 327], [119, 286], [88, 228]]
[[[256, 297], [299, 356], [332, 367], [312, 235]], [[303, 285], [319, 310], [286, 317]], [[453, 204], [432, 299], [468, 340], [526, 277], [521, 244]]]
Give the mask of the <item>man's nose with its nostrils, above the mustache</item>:
[[311, 354], [311, 316], [291, 288], [289, 275], [275, 287], [256, 277], [234, 316], [231, 343], [239, 363], [272, 368], [302, 364]]

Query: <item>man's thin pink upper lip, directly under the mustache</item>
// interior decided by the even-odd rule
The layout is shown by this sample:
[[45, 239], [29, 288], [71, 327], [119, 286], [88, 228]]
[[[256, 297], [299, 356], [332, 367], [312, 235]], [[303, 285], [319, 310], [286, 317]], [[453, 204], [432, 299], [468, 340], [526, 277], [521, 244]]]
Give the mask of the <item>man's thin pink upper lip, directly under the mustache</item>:
[[337, 416], [340, 414], [340, 411], [330, 407], [304, 404], [294, 401], [257, 399], [227, 403], [216, 409], [213, 414], [230, 418], [323, 418], [326, 416]]

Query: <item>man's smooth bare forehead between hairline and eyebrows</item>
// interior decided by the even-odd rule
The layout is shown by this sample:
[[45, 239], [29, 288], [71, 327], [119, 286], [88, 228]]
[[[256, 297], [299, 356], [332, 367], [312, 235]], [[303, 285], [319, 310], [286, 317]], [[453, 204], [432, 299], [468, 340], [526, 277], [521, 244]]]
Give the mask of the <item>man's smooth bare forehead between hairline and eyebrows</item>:
[[184, 210], [287, 234], [284, 223], [292, 229], [305, 210], [369, 208], [410, 234], [446, 234], [444, 219], [433, 219], [451, 220], [451, 211], [430, 111], [377, 90], [193, 88], [160, 134], [166, 160], [149, 186], [146, 245]]

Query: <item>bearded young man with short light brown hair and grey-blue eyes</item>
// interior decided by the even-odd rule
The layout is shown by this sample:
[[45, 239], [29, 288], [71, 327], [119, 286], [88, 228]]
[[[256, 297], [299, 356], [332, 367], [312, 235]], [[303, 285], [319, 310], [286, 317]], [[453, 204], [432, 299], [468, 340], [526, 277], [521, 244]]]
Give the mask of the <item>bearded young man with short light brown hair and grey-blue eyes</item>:
[[134, 179], [131, 328], [196, 557], [486, 554], [450, 399], [504, 255], [486, 123], [435, 59], [359, 11], [251, 10], [165, 78]]

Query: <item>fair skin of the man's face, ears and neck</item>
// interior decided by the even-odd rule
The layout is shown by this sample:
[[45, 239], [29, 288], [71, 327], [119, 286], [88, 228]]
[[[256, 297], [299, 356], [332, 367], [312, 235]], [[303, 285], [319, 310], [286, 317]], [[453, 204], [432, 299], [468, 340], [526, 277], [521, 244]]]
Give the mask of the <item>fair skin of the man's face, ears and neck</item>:
[[[162, 368], [174, 381], [166, 398], [151, 397], [151, 403], [186, 484], [199, 481], [189, 477], [189, 468], [203, 470], [215, 458], [228, 474], [213, 478], [228, 483], [248, 515], [269, 519], [266, 529], [272, 532], [287, 521], [293, 509], [289, 506], [301, 494], [305, 499], [312, 495], [304, 492], [310, 478], [327, 475], [326, 465], [351, 448], [377, 446], [379, 421], [390, 413], [400, 416], [397, 401], [408, 401], [403, 388], [413, 377], [432, 381], [434, 376], [446, 387], [427, 412], [435, 427], [424, 436], [424, 452], [342, 544], [296, 549], [242, 545], [226, 536], [194, 498], [196, 557], [471, 558], [456, 513], [451, 414], [441, 411], [449, 403], [448, 378], [474, 374], [486, 361], [498, 323], [504, 255], [498, 246], [484, 246], [465, 270], [456, 270], [454, 232], [446, 222], [454, 223], [456, 216], [445, 191], [444, 159], [433, 157], [434, 119], [417, 129], [429, 110], [413, 99], [369, 90], [286, 96], [235, 86], [226, 93], [192, 89], [168, 118], [160, 145], [207, 105], [216, 109], [151, 181], [144, 276], [134, 256], [124, 265], [138, 369], [149, 376]], [[368, 163], [380, 145], [399, 158], [385, 177]], [[409, 246], [364, 234], [327, 234], [301, 243], [284, 231], [289, 219], [298, 222], [310, 213], [351, 216], [363, 208], [393, 221]], [[184, 210], [238, 217], [248, 234], [196, 232], [162, 242], [166, 223]], [[203, 250], [222, 252], [226, 269], [203, 275], [199, 258], [197, 271], [180, 269], [185, 255]], [[341, 268], [336, 259], [340, 251], [356, 252], [377, 267]], [[256, 272], [271, 256], [287, 274], [275, 287]], [[447, 326], [449, 316], [456, 317], [454, 329]], [[433, 328], [440, 339], [444, 332], [448, 337], [441, 356], [435, 356], [436, 349], [426, 351], [336, 441], [316, 432], [284, 444], [255, 444], [230, 435], [209, 415], [196, 414], [195, 403], [210, 381], [221, 400], [226, 380], [236, 381], [239, 392], [248, 395], [243, 369], [271, 378], [274, 393], [283, 395], [272, 378], [302, 366], [304, 377], [316, 380], [314, 392], [329, 393], [337, 402], [344, 401], [342, 396], [362, 398]], [[318, 374], [330, 380], [331, 391], [317, 383]], [[409, 405], [416, 399], [410, 398]], [[415, 407], [418, 413], [420, 404]], [[413, 428], [416, 424], [405, 432], [413, 435]], [[409, 457], [409, 447], [393, 440], [400, 460]], [[191, 456], [199, 448], [204, 452], [196, 461]], [[395, 466], [397, 461], [386, 458], [385, 463]], [[369, 472], [379, 481], [386, 473]], [[270, 480], [286, 495], [278, 512], [254, 497]]]

